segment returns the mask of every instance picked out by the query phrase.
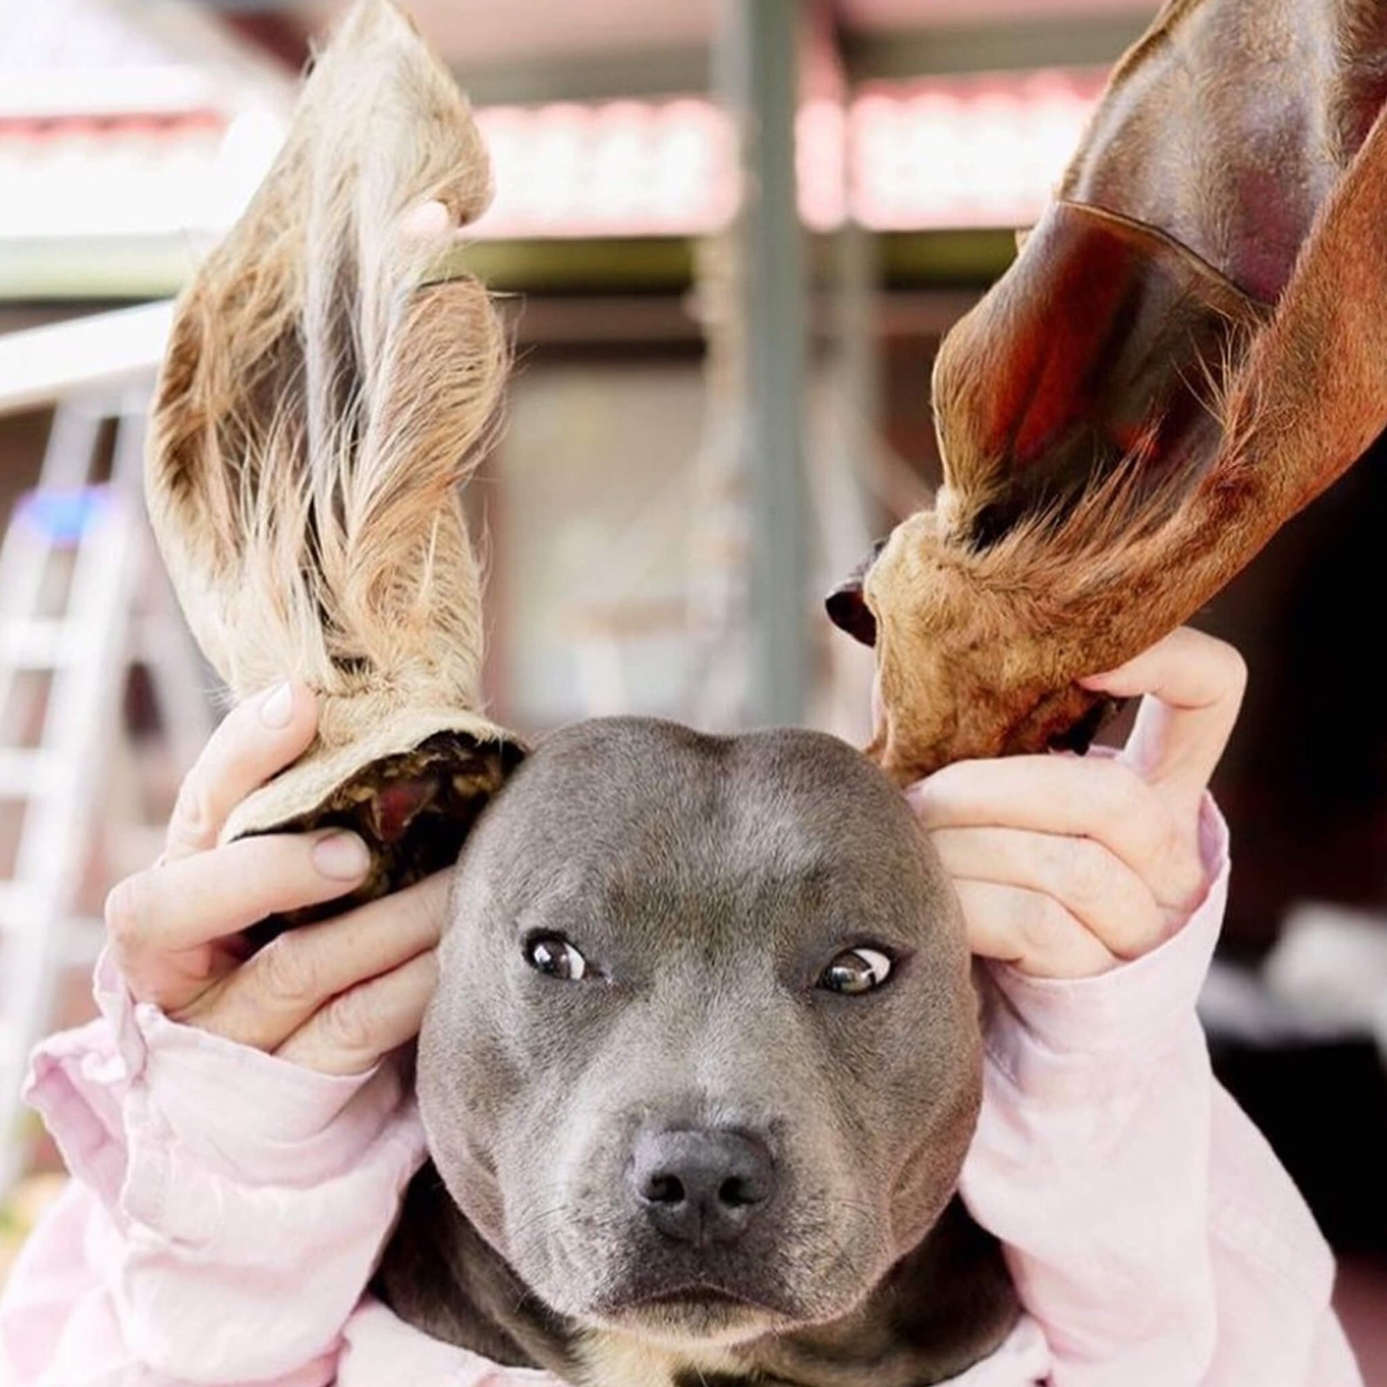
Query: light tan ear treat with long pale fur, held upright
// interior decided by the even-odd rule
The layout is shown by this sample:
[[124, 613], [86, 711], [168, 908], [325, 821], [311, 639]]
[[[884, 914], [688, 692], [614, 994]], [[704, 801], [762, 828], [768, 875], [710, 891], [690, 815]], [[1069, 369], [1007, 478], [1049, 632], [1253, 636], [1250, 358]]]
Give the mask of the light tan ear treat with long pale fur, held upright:
[[362, 0], [180, 297], [151, 415], [150, 516], [208, 659], [237, 699], [319, 695], [312, 748], [223, 836], [351, 827], [374, 857], [352, 900], [452, 861], [522, 755], [483, 712], [460, 497], [508, 356], [448, 264], [490, 191], [447, 68]]

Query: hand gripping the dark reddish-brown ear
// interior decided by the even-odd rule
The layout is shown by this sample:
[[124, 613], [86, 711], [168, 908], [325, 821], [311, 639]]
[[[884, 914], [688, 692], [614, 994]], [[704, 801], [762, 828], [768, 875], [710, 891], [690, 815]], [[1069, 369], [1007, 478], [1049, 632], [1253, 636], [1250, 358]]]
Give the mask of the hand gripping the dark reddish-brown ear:
[[953, 877], [974, 953], [1039, 978], [1140, 958], [1198, 904], [1200, 804], [1247, 667], [1182, 627], [1082, 682], [1144, 695], [1118, 757], [958, 761], [906, 792]]

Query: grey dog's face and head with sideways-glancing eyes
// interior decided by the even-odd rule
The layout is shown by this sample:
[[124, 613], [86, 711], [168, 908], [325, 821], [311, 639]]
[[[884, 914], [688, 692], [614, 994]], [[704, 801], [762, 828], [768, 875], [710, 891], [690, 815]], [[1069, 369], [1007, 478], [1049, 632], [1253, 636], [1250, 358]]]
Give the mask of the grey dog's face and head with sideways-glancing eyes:
[[452, 1198], [553, 1309], [664, 1343], [850, 1311], [979, 1103], [957, 903], [811, 732], [542, 743], [459, 864], [419, 1096]]

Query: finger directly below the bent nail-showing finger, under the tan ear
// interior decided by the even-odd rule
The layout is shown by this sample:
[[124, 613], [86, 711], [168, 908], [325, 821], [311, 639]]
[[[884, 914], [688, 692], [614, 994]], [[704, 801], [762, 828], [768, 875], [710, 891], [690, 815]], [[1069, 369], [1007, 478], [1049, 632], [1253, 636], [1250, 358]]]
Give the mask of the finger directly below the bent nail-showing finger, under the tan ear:
[[[179, 1019], [257, 1050], [279, 1050], [333, 999], [430, 951], [442, 931], [449, 881], [440, 872], [344, 915], [286, 931]], [[380, 1053], [395, 1044], [390, 1040]]]

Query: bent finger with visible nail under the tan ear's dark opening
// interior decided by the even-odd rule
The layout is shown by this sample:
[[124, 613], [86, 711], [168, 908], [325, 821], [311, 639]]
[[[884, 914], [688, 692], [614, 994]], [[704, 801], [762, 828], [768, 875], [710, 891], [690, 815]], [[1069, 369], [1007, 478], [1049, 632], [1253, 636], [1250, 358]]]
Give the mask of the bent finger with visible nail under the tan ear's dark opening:
[[136, 997], [178, 1011], [207, 985], [198, 950], [266, 915], [334, 900], [369, 867], [355, 834], [323, 829], [243, 838], [137, 872], [105, 903], [115, 963]]

